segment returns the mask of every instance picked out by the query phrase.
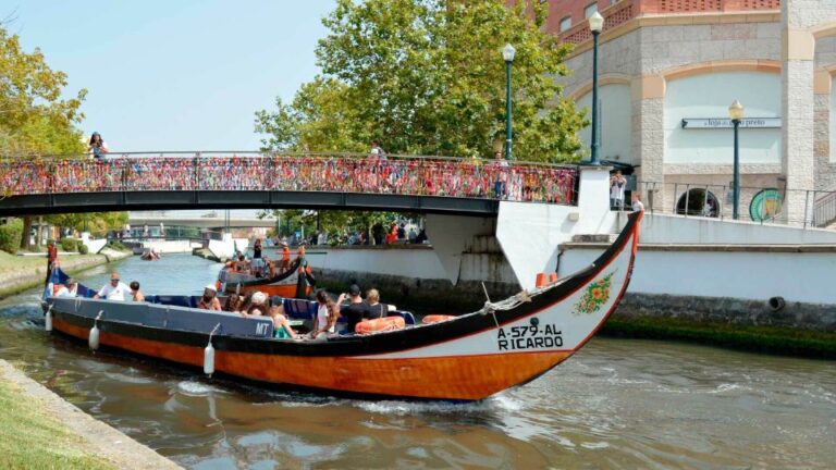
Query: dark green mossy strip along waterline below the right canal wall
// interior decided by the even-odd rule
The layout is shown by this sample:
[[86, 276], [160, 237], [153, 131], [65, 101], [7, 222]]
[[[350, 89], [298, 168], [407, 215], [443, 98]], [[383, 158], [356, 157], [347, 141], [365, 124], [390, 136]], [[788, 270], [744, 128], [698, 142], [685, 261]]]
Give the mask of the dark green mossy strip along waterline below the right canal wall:
[[611, 318], [607, 336], [681, 339], [760, 352], [836, 359], [836, 333], [778, 326], [696, 323], [672, 318]]

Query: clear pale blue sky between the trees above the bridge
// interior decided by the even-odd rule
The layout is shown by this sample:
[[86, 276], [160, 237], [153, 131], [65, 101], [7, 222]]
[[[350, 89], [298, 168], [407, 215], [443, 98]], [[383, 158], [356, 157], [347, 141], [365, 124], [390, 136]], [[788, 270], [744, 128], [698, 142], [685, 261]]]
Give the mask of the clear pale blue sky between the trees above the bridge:
[[111, 151], [258, 150], [254, 113], [319, 72], [333, 0], [0, 0], [0, 18], [86, 88], [86, 135]]

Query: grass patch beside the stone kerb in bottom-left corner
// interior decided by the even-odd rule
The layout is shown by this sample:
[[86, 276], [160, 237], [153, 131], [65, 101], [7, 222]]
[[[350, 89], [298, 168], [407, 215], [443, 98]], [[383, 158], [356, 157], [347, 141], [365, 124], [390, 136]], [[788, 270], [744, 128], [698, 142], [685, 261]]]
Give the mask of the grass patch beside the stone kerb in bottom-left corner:
[[110, 469], [85, 452], [84, 440], [48, 416], [38, 399], [0, 382], [0, 468]]

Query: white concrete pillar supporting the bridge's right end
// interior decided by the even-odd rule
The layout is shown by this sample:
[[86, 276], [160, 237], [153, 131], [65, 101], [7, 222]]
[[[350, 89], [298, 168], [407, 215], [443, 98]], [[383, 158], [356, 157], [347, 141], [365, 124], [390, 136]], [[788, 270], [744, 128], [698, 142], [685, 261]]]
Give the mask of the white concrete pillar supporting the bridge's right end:
[[[608, 166], [581, 166], [578, 206], [500, 202], [496, 239], [522, 288], [533, 288], [537, 273], [557, 271], [557, 248], [575, 235], [612, 234]], [[434, 243], [434, 240], [433, 240]]]

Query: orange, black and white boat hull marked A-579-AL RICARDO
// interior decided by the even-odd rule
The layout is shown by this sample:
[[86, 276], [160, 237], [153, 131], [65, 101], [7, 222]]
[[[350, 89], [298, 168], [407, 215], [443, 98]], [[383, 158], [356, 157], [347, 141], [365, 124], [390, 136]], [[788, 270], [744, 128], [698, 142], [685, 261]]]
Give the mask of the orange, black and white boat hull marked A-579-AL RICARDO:
[[[480, 400], [525, 384], [580, 349], [615, 310], [630, 280], [641, 213], [587, 269], [472, 313], [327, 341], [273, 337], [269, 318], [151, 302], [45, 300], [48, 330], [290, 388], [349, 396]], [[49, 293], [49, 292], [48, 292]], [[78, 288], [79, 295], [89, 295]], [[168, 301], [168, 302], [167, 302]], [[300, 300], [299, 300], [300, 301]]]

